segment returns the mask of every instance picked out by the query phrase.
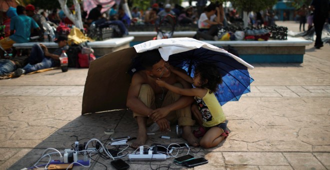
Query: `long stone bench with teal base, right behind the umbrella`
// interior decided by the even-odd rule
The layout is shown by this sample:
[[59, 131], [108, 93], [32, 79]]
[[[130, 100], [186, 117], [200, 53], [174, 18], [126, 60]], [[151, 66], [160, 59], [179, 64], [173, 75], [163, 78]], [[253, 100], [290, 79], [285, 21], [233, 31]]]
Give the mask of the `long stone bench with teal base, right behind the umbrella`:
[[239, 57], [249, 63], [301, 63], [305, 46], [313, 43], [311, 40], [297, 37], [287, 37], [286, 40], [267, 41], [210, 41], [214, 46], [228, 49], [228, 45], [234, 47]]

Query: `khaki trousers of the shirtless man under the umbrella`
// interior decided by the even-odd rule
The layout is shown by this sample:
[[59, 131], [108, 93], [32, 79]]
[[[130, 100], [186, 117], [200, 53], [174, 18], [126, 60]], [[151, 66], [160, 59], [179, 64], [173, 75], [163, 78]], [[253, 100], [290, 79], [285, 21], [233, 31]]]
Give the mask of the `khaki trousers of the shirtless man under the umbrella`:
[[[180, 83], [175, 83], [174, 86], [182, 88], [182, 85]], [[138, 94], [138, 98], [147, 107], [152, 109], [169, 105], [175, 102], [179, 97], [180, 94], [168, 90], [162, 102], [160, 99], [155, 100], [153, 89], [149, 84], [142, 84]], [[145, 116], [145, 115], [133, 112], [133, 117], [136, 116]], [[190, 105], [169, 112], [165, 118], [169, 120], [171, 123], [174, 123], [177, 120], [178, 125], [180, 126], [185, 126], [185, 125], [191, 126], [195, 123], [195, 120], [191, 119]], [[151, 123], [152, 123], [152, 119], [148, 118], [147, 125], [150, 125]]]

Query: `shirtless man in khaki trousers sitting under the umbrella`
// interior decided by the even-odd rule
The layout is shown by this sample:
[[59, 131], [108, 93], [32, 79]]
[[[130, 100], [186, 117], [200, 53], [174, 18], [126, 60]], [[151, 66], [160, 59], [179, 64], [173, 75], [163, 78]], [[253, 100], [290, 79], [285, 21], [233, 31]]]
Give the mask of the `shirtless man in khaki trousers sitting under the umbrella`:
[[[175, 85], [179, 88], [191, 88], [191, 84], [184, 81], [176, 74], [171, 74], [169, 64], [165, 62], [158, 49], [139, 53], [140, 63], [145, 68], [133, 74], [128, 89], [126, 105], [133, 111], [133, 117], [137, 121], [138, 135], [131, 147], [137, 148], [147, 141], [146, 125], [155, 122], [163, 132], [170, 130], [168, 121], [182, 126], [182, 137], [192, 146], [198, 146], [198, 139], [191, 132], [191, 125], [195, 123], [191, 119], [190, 105], [193, 98], [176, 94], [156, 85], [157, 78]], [[154, 121], [155, 113], [157, 121]]]

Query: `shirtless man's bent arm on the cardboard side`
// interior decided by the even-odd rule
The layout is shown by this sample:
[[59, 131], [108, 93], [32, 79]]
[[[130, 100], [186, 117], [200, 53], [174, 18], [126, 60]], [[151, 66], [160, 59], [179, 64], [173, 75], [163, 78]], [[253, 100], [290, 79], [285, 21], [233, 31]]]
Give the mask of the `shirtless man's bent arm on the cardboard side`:
[[139, 73], [133, 74], [131, 84], [128, 88], [126, 106], [133, 112], [147, 116], [152, 109], [147, 107], [140, 99], [138, 99], [138, 93], [142, 83], [143, 77]]

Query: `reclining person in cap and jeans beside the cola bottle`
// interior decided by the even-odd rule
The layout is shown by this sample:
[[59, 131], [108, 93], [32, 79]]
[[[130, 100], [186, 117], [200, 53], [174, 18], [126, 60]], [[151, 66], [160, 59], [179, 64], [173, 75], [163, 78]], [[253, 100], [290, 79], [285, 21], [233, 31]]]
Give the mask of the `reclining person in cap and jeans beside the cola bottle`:
[[53, 53], [48, 52], [48, 49], [42, 43], [33, 44], [30, 57], [28, 59], [27, 65], [23, 68], [18, 68], [16, 70], [16, 75], [21, 75], [24, 73], [33, 72], [39, 69], [50, 68], [54, 66], [59, 66], [59, 56], [62, 51], [68, 49], [67, 37], [64, 35], [59, 35], [54, 41], [58, 44], [58, 47]]

